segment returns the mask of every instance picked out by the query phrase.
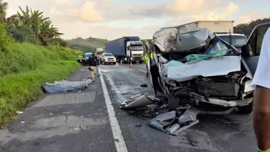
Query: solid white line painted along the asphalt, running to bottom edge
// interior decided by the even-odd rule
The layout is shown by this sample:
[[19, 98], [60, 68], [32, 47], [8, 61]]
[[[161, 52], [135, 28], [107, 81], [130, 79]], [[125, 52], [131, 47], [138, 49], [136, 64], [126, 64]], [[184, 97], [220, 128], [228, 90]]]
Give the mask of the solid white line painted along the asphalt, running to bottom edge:
[[111, 99], [109, 98], [109, 93], [107, 91], [107, 87], [103, 79], [100, 67], [98, 67], [98, 72], [100, 73], [100, 81], [105, 97], [107, 111], [109, 113], [109, 122], [111, 124], [111, 131], [113, 132], [114, 135], [114, 144], [116, 144], [116, 150], [117, 152], [127, 152], [127, 146], [125, 146], [125, 141], [121, 133], [118, 121], [116, 119], [116, 113], [114, 113], [114, 107], [111, 105]]

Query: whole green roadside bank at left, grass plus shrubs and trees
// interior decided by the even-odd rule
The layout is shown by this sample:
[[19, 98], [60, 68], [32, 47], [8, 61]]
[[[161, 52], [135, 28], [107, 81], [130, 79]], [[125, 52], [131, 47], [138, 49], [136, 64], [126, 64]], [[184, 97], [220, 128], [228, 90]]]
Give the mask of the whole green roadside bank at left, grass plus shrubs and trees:
[[42, 84], [65, 79], [80, 68], [63, 35], [39, 10], [19, 8], [6, 17], [8, 3], [0, 0], [0, 128], [29, 102], [40, 97]]

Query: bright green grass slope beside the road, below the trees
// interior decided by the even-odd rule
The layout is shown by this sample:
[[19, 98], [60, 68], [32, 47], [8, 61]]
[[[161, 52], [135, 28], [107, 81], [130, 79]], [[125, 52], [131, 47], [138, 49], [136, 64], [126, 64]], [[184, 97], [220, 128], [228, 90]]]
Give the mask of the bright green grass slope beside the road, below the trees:
[[0, 53], [0, 126], [5, 127], [29, 102], [43, 95], [42, 84], [65, 79], [80, 68], [70, 48], [16, 43]]

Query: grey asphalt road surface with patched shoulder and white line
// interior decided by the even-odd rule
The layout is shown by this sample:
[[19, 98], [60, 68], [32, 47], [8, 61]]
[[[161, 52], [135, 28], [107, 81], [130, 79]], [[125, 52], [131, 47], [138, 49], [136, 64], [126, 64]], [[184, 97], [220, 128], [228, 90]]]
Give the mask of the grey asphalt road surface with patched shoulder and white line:
[[[168, 135], [118, 108], [131, 95], [153, 93], [144, 64], [102, 65], [100, 73], [84, 91], [44, 95], [30, 104], [0, 131], [0, 151], [256, 151], [251, 115], [199, 115], [199, 124]], [[88, 76], [83, 67], [69, 80]]]

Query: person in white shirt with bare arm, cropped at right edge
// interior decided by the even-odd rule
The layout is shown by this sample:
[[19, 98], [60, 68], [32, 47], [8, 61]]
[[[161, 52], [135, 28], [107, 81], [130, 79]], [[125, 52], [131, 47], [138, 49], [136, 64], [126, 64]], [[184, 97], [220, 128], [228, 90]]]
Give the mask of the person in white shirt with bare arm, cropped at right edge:
[[252, 86], [255, 87], [253, 126], [258, 151], [270, 152], [270, 28], [264, 35]]

